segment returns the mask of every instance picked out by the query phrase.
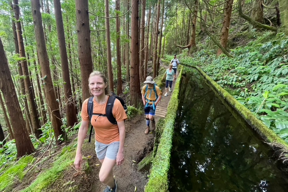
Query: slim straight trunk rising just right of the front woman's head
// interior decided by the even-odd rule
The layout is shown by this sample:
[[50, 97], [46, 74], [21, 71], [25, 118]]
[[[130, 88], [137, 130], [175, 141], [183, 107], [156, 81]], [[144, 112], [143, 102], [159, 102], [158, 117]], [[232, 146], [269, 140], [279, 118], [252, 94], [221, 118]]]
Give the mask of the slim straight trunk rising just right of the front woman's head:
[[106, 46], [107, 46], [107, 62], [108, 62], [108, 79], [109, 88], [114, 92], [113, 72], [111, 62], [111, 43], [110, 43], [110, 24], [109, 24], [109, 1], [105, 0], [105, 26], [106, 26]]

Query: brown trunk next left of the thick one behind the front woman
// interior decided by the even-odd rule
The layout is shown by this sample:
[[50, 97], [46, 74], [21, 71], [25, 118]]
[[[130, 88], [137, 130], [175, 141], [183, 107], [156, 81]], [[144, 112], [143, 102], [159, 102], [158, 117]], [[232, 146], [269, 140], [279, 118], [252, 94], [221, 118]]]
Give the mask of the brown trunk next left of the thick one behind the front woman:
[[60, 51], [60, 57], [61, 57], [62, 78], [64, 81], [63, 88], [64, 88], [64, 95], [65, 95], [67, 126], [69, 127], [69, 126], [74, 126], [74, 124], [77, 122], [77, 116], [76, 116], [76, 111], [75, 111], [75, 107], [73, 103], [73, 95], [72, 95], [71, 83], [70, 83], [63, 18], [62, 18], [62, 12], [61, 12], [61, 3], [60, 3], [60, 0], [54, 0], [53, 2], [54, 2], [54, 12], [55, 12], [55, 18], [56, 18], [57, 34], [58, 34], [59, 51]]

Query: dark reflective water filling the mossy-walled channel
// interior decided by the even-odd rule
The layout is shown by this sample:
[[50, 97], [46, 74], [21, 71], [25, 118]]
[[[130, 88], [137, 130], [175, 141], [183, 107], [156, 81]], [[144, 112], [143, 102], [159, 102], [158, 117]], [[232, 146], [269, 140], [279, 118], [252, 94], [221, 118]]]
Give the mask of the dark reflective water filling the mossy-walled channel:
[[288, 174], [197, 71], [182, 79], [169, 191], [288, 191]]

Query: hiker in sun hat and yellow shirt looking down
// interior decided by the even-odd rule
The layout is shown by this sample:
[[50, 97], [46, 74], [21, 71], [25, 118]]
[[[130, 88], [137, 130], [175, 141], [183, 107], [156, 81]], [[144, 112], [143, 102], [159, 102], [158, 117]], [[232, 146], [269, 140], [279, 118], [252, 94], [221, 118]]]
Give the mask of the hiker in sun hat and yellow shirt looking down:
[[161, 99], [162, 92], [151, 76], [146, 77], [144, 83], [146, 83], [146, 85], [142, 87], [142, 100], [144, 104], [144, 113], [146, 115], [146, 129], [144, 133], [148, 134], [150, 131], [150, 121], [151, 131], [155, 130], [155, 108]]

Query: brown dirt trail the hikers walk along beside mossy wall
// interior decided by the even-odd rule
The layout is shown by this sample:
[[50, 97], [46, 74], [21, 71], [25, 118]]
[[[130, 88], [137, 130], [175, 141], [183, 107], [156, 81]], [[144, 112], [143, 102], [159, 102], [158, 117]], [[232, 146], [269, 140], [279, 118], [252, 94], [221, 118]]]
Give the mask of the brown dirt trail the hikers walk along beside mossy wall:
[[[168, 68], [168, 66], [164, 67]], [[174, 90], [174, 84], [175, 81], [173, 81], [172, 91]], [[169, 92], [168, 96], [165, 97], [165, 87], [162, 87], [161, 89], [162, 99], [158, 103], [158, 106], [167, 108], [172, 92]], [[160, 117], [155, 117], [156, 123], [158, 122], [159, 118]], [[124, 143], [124, 163], [121, 166], [115, 165], [113, 168], [113, 175], [115, 175], [115, 180], [118, 186], [117, 191], [133, 192], [135, 186], [137, 187], [137, 191], [144, 191], [144, 187], [148, 181], [147, 174], [149, 173], [138, 172], [137, 163], [133, 161], [141, 161], [141, 159], [143, 159], [143, 157], [145, 157], [145, 155], [147, 155], [149, 151], [153, 149], [155, 133], [150, 132], [147, 135], [144, 134], [146, 128], [144, 115], [126, 121], [125, 127], [126, 138]], [[91, 159], [89, 160], [89, 162], [90, 164], [92, 164], [92, 186], [91, 183], [87, 183], [87, 185], [91, 186], [90, 191], [102, 192], [106, 186], [104, 186], [98, 179], [98, 173], [101, 165], [97, 165], [100, 164], [100, 162], [96, 157], [96, 153], [94, 151], [94, 144], [90, 144], [89, 149], [86, 148], [83, 155], [91, 155]]]

